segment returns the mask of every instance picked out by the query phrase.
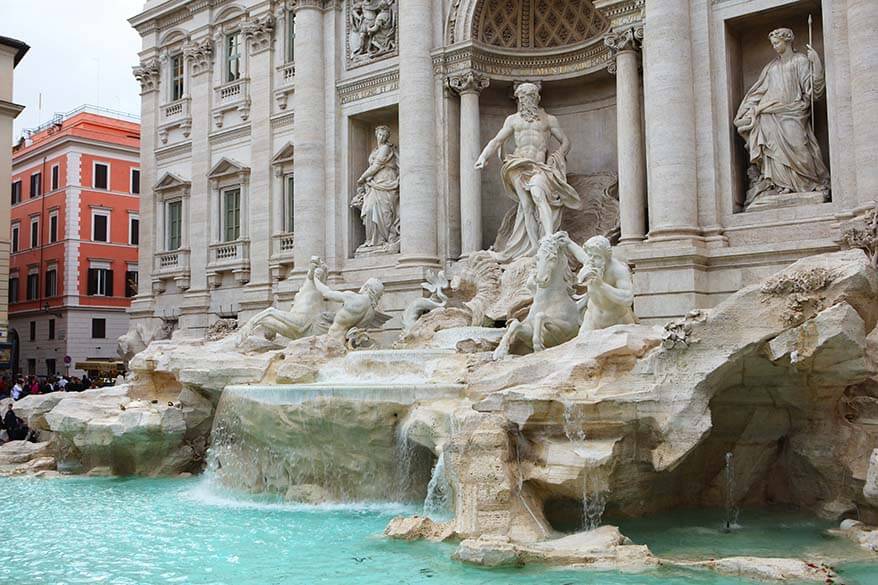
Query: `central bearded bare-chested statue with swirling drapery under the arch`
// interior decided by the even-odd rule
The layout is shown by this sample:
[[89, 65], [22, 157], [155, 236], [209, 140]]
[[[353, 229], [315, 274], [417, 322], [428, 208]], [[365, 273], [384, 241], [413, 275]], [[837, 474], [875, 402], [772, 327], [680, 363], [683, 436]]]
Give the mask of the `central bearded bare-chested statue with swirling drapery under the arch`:
[[[500, 170], [507, 195], [518, 202], [503, 219], [494, 244], [494, 255], [500, 263], [535, 255], [540, 239], [561, 227], [564, 208], [579, 209], [582, 204], [579, 194], [567, 183], [570, 140], [558, 119], [540, 107], [539, 88], [522, 83], [515, 97], [518, 112], [506, 118], [503, 128], [476, 161], [477, 169], [485, 168], [488, 158], [500, 153], [509, 138], [515, 138], [515, 150], [503, 160]], [[550, 154], [553, 137], [560, 146]]]

